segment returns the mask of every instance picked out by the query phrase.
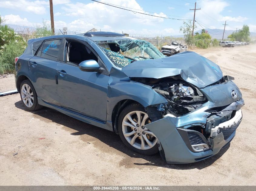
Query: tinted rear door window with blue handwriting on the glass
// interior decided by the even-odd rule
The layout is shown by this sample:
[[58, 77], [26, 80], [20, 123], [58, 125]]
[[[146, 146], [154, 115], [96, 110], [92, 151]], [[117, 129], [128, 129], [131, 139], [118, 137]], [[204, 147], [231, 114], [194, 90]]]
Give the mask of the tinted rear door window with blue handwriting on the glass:
[[57, 60], [61, 41], [62, 41], [61, 39], [53, 39], [53, 40], [45, 41], [42, 46], [41, 55], [39, 53], [37, 54], [37, 56], [41, 56], [42, 58], [46, 58], [46, 59]]

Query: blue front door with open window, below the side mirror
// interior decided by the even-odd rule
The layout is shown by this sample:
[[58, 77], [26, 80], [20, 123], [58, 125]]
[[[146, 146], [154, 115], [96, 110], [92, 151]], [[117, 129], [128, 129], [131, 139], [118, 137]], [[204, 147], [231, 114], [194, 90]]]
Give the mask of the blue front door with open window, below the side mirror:
[[[81, 71], [78, 64], [89, 59], [98, 61], [105, 68], [104, 71]], [[63, 62], [57, 64], [56, 70], [58, 102], [61, 107], [106, 121], [109, 72], [93, 49], [83, 41], [67, 39]]]

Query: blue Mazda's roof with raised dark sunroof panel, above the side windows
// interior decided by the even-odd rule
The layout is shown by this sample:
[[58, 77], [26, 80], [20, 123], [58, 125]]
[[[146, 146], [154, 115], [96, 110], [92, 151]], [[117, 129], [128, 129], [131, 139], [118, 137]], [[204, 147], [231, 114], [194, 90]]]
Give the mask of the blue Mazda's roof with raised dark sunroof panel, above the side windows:
[[48, 37], [41, 37], [37, 39], [30, 39], [28, 40], [28, 44], [32, 42], [40, 41], [40, 40], [48, 40], [53, 38], [64, 38], [64, 37], [77, 38], [80, 40], [90, 39], [92, 41], [135, 39], [131, 37], [126, 37], [124, 34], [120, 34], [120, 33], [99, 31], [99, 32], [89, 32], [89, 33], [83, 33], [83, 34], [54, 35], [54, 36], [48, 36]]

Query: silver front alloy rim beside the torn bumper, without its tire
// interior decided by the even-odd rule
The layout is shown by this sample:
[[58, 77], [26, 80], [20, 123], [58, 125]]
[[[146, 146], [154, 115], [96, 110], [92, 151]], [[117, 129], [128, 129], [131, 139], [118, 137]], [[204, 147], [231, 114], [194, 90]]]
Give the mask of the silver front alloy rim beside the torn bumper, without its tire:
[[122, 121], [122, 131], [130, 145], [137, 149], [147, 150], [157, 143], [156, 136], [145, 125], [150, 123], [148, 114], [142, 111], [128, 113]]

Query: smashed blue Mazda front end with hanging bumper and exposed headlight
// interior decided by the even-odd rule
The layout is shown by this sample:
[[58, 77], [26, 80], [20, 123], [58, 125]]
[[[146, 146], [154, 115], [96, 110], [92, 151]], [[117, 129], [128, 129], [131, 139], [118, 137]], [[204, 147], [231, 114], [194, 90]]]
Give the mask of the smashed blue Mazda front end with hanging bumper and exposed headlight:
[[[146, 128], [158, 137], [160, 154], [167, 163], [191, 163], [217, 154], [232, 140], [241, 123], [244, 100], [232, 81], [222, 81], [205, 90], [182, 81], [160, 83], [152, 88], [168, 103], [157, 106], [163, 119]], [[218, 89], [220, 94], [212, 94], [210, 89]], [[234, 89], [239, 99], [223, 100], [228, 94], [232, 97]]]

